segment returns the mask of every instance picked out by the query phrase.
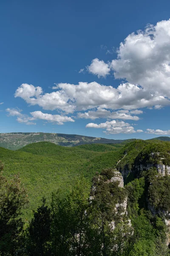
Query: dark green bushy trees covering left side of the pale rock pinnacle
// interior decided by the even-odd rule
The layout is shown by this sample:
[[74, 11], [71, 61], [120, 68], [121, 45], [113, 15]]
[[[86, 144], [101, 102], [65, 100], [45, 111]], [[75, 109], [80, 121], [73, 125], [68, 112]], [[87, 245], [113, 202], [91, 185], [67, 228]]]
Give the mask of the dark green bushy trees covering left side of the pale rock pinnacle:
[[[121, 213], [124, 212], [121, 203], [126, 198], [125, 189], [119, 186], [120, 180], [116, 175], [118, 174], [113, 169], [102, 170], [100, 175], [97, 174], [93, 178], [91, 189], [91, 221], [94, 227], [98, 227], [103, 256], [112, 255], [113, 253], [111, 243], [114, 241], [115, 244], [116, 237], [113, 230], [123, 218]], [[116, 177], [116, 180], [111, 181], [112, 177]], [[116, 208], [116, 205], [118, 208]], [[116, 243], [118, 240], [117, 236]], [[118, 247], [117, 244], [116, 247]]]

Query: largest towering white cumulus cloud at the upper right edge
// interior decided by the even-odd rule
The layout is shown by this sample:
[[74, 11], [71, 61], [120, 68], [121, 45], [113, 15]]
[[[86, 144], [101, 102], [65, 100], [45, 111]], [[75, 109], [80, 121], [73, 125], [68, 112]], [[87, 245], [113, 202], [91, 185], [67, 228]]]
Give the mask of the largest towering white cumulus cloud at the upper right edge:
[[111, 67], [116, 79], [124, 78], [147, 92], [170, 97], [170, 20], [128, 35]]

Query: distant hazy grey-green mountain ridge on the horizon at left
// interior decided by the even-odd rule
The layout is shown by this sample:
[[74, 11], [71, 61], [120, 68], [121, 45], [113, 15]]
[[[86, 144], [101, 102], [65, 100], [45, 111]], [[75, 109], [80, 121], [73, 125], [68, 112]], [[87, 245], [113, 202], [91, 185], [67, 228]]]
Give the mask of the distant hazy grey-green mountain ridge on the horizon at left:
[[131, 140], [112, 140], [98, 137], [88, 137], [77, 134], [53, 134], [53, 133], [1, 133], [0, 134], [0, 147], [17, 150], [28, 144], [48, 141], [61, 146], [77, 146], [84, 144], [102, 143], [102, 144], [117, 144], [129, 142]]

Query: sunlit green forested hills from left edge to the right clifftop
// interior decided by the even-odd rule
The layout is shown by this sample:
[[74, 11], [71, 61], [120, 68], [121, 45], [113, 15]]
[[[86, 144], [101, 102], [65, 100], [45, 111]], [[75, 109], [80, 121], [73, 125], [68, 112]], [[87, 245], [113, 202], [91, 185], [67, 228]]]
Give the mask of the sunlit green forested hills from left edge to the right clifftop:
[[[49, 200], [52, 192], [62, 191], [65, 196], [81, 177], [91, 186], [96, 172], [117, 168], [120, 172], [133, 170], [136, 159], [141, 163], [151, 152], [170, 152], [170, 143], [159, 140], [135, 140], [122, 144], [86, 144], [63, 147], [50, 142], [31, 143], [16, 151], [0, 148], [4, 175], [9, 179], [20, 172], [22, 183], [28, 189], [30, 216], [43, 196]], [[147, 156], [147, 157], [146, 157]], [[133, 177], [128, 177], [129, 178]], [[126, 182], [127, 183], [127, 182]]]

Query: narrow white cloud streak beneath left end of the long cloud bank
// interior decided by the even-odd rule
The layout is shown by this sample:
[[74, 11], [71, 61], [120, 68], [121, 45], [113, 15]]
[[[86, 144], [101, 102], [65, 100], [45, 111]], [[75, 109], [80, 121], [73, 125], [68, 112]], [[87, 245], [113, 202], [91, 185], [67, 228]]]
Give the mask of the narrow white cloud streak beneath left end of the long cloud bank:
[[64, 122], [74, 122], [74, 119], [69, 116], [52, 115], [48, 113], [42, 113], [41, 111], [34, 111], [30, 114], [34, 117], [34, 119], [42, 119], [48, 122], [57, 123], [58, 125], [63, 125]]

